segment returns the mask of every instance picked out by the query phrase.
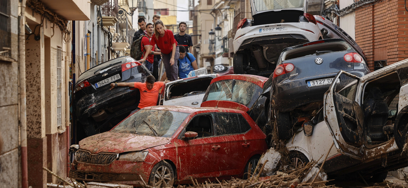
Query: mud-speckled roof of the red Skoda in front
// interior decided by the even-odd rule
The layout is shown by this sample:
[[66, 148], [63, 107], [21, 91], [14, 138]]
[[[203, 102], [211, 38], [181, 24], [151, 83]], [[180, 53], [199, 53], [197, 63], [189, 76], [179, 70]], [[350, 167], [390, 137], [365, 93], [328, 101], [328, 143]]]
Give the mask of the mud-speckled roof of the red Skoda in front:
[[230, 109], [230, 108], [218, 108], [218, 107], [189, 107], [189, 106], [151, 106], [145, 107], [143, 109], [151, 110], [168, 110], [168, 111], [177, 111], [185, 113], [194, 113], [194, 112], [231, 112], [231, 113], [243, 113], [242, 110]]

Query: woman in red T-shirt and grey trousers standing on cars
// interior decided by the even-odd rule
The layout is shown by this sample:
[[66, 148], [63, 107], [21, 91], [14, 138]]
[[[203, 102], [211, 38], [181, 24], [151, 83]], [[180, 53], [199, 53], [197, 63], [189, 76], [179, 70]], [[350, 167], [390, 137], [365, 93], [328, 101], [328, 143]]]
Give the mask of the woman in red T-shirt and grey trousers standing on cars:
[[[166, 76], [167, 79], [170, 81], [177, 80], [177, 76], [179, 75], [179, 68], [177, 67], [174, 62], [179, 59], [179, 46], [177, 46], [177, 42], [174, 39], [173, 32], [168, 30], [161, 20], [157, 20], [155, 23], [155, 34], [153, 34], [150, 46], [155, 46], [161, 50], [162, 53], [162, 62], [166, 69]], [[150, 53], [150, 49], [146, 49], [147, 54]], [[147, 56], [144, 56], [139, 61], [144, 62]]]

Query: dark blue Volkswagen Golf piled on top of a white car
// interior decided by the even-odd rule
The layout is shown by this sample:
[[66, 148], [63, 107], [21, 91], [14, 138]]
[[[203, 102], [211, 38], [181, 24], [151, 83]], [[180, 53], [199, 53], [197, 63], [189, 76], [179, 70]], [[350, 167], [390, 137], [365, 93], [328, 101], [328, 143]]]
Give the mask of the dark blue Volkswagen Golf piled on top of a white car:
[[[311, 119], [322, 107], [323, 95], [336, 74], [370, 73], [366, 62], [343, 39], [325, 39], [285, 48], [273, 73], [272, 109], [279, 139], [289, 139], [292, 128]], [[339, 88], [350, 80], [340, 80]]]

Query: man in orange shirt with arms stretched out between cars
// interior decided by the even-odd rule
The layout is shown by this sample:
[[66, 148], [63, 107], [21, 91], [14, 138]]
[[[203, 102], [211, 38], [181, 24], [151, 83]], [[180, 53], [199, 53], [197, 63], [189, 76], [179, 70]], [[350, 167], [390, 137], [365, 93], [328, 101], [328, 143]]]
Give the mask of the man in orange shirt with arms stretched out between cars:
[[[167, 81], [169, 82], [169, 81]], [[111, 89], [114, 87], [134, 87], [138, 88], [140, 91], [140, 102], [136, 110], [132, 111], [131, 114], [138, 111], [141, 108], [148, 106], [156, 106], [157, 100], [159, 98], [159, 92], [164, 88], [167, 82], [155, 82], [155, 77], [152, 75], [147, 76], [146, 82], [120, 82], [111, 83]]]

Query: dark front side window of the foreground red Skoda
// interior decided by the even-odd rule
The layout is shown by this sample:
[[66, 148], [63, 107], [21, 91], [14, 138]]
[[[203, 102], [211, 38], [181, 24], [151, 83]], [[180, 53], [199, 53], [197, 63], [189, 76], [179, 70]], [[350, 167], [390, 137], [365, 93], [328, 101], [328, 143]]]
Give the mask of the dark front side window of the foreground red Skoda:
[[212, 114], [199, 114], [194, 116], [187, 124], [186, 129], [179, 135], [181, 139], [187, 131], [198, 133], [197, 138], [210, 137], [214, 135]]

